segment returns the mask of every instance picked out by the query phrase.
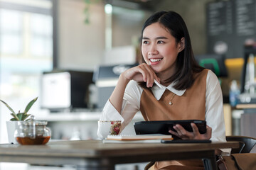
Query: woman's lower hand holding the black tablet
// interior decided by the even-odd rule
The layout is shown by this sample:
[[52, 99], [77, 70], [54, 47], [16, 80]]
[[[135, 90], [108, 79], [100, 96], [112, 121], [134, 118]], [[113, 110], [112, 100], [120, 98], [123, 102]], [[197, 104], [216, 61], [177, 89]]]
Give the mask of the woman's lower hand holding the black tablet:
[[174, 132], [173, 130], [169, 130], [169, 132], [172, 135], [176, 135], [177, 137], [180, 137], [182, 140], [210, 140], [212, 129], [206, 125], [206, 133], [201, 134], [198, 131], [198, 128], [195, 123], [191, 123], [191, 127], [193, 129], [193, 132], [188, 132], [185, 130], [181, 125], [174, 125], [174, 129], [177, 132]]

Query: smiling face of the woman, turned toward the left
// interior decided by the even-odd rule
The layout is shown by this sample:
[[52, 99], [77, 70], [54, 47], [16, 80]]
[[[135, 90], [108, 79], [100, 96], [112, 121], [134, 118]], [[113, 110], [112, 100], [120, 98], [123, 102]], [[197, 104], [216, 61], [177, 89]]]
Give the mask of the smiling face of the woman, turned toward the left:
[[174, 36], [159, 23], [152, 23], [144, 29], [142, 35], [142, 55], [146, 64], [158, 76], [170, 77], [174, 74], [181, 43], [176, 43]]

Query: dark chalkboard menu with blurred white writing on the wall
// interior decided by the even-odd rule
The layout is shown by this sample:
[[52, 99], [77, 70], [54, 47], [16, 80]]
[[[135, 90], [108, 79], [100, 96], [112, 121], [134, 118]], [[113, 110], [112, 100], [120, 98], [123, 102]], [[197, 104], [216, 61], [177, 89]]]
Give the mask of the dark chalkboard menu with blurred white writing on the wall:
[[244, 57], [244, 46], [256, 40], [256, 1], [230, 0], [207, 4], [208, 53]]

